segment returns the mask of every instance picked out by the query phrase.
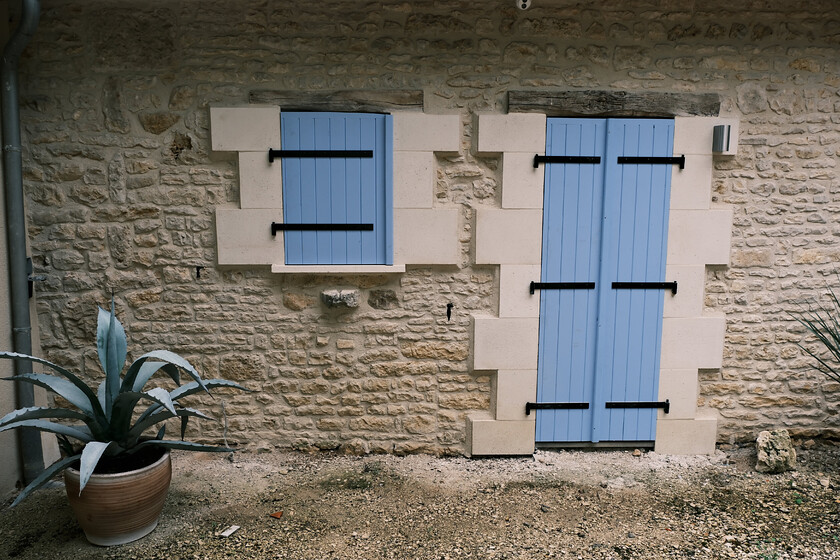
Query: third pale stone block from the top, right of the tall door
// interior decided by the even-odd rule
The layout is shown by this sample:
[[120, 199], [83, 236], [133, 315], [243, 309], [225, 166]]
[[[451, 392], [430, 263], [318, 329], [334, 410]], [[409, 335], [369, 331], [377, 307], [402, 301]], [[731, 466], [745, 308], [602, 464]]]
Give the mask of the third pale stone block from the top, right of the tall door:
[[668, 223], [668, 263], [729, 265], [732, 209], [673, 210]]

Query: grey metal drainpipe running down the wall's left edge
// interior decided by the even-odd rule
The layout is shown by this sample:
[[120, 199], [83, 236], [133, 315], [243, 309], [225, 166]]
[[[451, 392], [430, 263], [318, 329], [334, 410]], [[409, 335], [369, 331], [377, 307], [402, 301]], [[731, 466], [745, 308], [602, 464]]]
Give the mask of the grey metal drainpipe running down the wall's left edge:
[[[21, 160], [18, 62], [23, 49], [38, 27], [40, 0], [23, 0], [21, 21], [6, 43], [0, 66], [2, 83], [3, 184], [6, 191], [6, 235], [9, 245], [9, 297], [12, 344], [15, 352], [32, 354], [32, 325], [29, 317], [29, 285], [26, 267], [26, 216], [23, 207], [23, 163]], [[32, 371], [32, 363], [14, 361], [15, 373]], [[33, 386], [15, 383], [17, 407], [35, 405]], [[17, 430], [21, 467], [26, 482], [44, 470], [41, 434], [33, 428]]]

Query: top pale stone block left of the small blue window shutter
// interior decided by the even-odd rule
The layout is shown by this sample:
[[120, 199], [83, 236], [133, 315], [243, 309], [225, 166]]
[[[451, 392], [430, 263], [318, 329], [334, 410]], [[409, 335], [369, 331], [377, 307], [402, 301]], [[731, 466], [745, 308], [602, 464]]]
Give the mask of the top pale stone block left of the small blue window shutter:
[[217, 152], [280, 149], [279, 107], [210, 107], [210, 146]]

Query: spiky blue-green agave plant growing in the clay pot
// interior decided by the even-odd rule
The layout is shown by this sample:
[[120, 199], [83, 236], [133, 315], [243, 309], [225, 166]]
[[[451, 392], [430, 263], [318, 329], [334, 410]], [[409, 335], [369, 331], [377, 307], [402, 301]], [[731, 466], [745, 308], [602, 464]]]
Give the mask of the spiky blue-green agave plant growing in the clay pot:
[[[216, 387], [232, 387], [243, 391], [247, 389], [226, 379], [201, 379], [187, 360], [167, 350], [154, 350], [143, 354], [125, 370], [125, 375], [121, 375], [126, 362], [127, 343], [125, 329], [114, 313], [113, 298], [110, 313], [99, 308], [96, 350], [99, 363], [105, 372], [105, 380], [96, 391], [78, 376], [47, 360], [15, 352], [0, 352], [0, 358], [36, 362], [59, 374], [24, 373], [5, 378], [6, 380], [44, 387], [75, 407], [21, 408], [0, 418], [0, 431], [29, 426], [55, 433], [63, 455], [24, 488], [12, 503], [12, 507], [33, 490], [43, 486], [56, 473], [75, 463], [79, 464], [81, 493], [102, 457], [127, 456], [148, 446], [190, 451], [233, 451], [227, 447], [184, 441], [187, 422], [191, 417], [212, 418], [198, 410], [182, 406], [179, 401], [199, 392], [209, 394], [210, 389]], [[181, 385], [182, 371], [192, 378], [191, 382]], [[148, 381], [158, 372], [167, 374], [178, 387], [172, 391], [160, 387], [146, 389]], [[138, 405], [141, 402], [146, 408], [135, 414], [135, 410], [139, 412]], [[154, 437], [144, 436], [148, 430], [171, 418], [180, 418], [180, 440], [163, 439], [165, 425]], [[60, 423], [54, 420], [71, 420], [76, 423]], [[78, 443], [74, 444], [72, 440]]]

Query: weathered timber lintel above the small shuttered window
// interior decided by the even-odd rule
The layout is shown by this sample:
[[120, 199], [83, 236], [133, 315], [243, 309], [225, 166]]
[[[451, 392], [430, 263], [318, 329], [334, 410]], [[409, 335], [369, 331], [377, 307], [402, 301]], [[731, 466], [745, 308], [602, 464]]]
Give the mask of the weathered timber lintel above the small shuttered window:
[[344, 90], [304, 92], [254, 90], [251, 103], [279, 105], [285, 111], [386, 112], [423, 110], [423, 90]]

